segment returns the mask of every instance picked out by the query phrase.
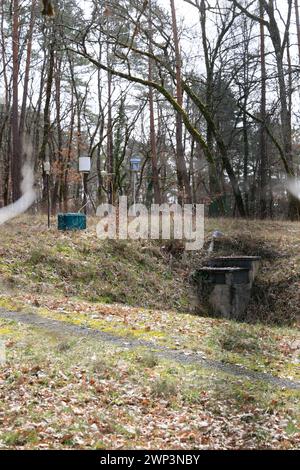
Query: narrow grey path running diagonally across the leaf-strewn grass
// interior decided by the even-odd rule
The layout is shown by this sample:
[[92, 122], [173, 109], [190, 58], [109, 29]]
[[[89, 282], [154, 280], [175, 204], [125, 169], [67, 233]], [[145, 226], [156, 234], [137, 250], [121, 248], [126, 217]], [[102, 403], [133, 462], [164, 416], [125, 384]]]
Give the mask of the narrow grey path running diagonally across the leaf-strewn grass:
[[0, 308], [0, 318], [12, 320], [26, 325], [31, 325], [36, 328], [42, 328], [47, 331], [55, 333], [68, 333], [86, 337], [97, 337], [105, 342], [112, 343], [123, 349], [134, 349], [136, 347], [145, 347], [151, 351], [155, 351], [157, 356], [179, 362], [181, 364], [198, 364], [206, 369], [215, 369], [236, 377], [244, 377], [248, 380], [265, 382], [276, 387], [285, 388], [289, 390], [300, 390], [300, 382], [295, 382], [289, 379], [282, 379], [275, 377], [271, 374], [264, 372], [257, 372], [246, 369], [235, 364], [223, 363], [212, 359], [203, 358], [200, 354], [177, 351], [174, 349], [165, 348], [156, 345], [151, 341], [144, 341], [138, 339], [124, 338], [115, 336], [100, 330], [87, 328], [84, 326], [72, 325], [71, 323], [53, 320], [51, 318], [41, 317], [35, 313], [20, 313], [6, 311]]

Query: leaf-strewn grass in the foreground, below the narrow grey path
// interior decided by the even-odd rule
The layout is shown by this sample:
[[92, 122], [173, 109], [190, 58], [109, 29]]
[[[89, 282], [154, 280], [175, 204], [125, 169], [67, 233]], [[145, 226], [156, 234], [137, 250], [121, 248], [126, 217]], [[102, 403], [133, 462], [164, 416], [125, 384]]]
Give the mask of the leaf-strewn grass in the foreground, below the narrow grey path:
[[[296, 449], [299, 393], [0, 320], [1, 449]], [[141, 360], [142, 358], [142, 360]]]

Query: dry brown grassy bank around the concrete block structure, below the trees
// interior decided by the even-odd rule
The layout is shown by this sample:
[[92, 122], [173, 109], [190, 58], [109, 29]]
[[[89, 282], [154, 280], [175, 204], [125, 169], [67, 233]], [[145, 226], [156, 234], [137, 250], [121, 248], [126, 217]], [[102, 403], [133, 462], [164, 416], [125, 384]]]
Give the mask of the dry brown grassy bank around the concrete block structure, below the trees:
[[0, 289], [203, 313], [190, 274], [205, 263], [218, 229], [225, 234], [219, 254], [262, 257], [246, 321], [292, 326], [299, 319], [299, 223], [208, 219], [205, 247], [195, 253], [178, 242], [99, 241], [95, 224], [61, 233], [54, 220], [48, 231], [44, 218], [23, 217], [0, 227]]

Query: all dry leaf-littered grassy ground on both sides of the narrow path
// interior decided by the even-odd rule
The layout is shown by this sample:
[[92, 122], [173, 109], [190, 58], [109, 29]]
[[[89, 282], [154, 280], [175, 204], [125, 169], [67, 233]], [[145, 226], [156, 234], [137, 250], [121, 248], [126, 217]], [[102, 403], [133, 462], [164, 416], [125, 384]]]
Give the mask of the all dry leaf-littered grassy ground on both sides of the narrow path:
[[[299, 224], [208, 220], [205, 249], [187, 254], [180, 244], [99, 242], [94, 220], [83, 233], [45, 222], [0, 227], [0, 306], [297, 378]], [[252, 324], [195, 315], [205, 311], [190, 274], [215, 229], [226, 235], [220, 254], [263, 258]], [[1, 338], [1, 448], [299, 447], [296, 391], [5, 320]]]

